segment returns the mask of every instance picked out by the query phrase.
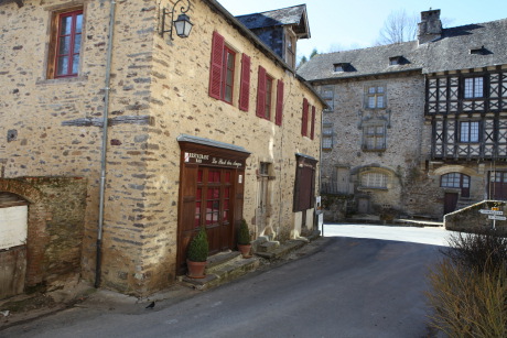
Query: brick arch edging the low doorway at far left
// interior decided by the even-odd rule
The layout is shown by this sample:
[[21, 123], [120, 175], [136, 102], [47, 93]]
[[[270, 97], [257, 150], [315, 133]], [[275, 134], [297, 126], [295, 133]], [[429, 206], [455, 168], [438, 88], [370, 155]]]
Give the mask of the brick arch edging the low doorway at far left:
[[25, 285], [44, 281], [44, 252], [50, 241], [46, 231], [44, 195], [30, 184], [34, 178], [0, 178], [0, 193], [14, 194], [29, 203]]

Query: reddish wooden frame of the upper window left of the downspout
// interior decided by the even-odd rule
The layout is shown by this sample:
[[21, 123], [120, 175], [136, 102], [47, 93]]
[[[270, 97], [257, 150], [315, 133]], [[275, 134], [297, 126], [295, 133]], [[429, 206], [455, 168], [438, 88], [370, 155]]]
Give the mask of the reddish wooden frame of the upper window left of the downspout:
[[[62, 19], [63, 18], [73, 18], [71, 20], [71, 33], [61, 34]], [[80, 31], [76, 32], [76, 23], [78, 22], [77, 18], [80, 17]], [[47, 67], [46, 67], [46, 78], [47, 79], [64, 79], [64, 78], [76, 78], [80, 74], [80, 65], [83, 59], [83, 43], [85, 36], [85, 10], [83, 6], [66, 8], [51, 13], [51, 30], [50, 30], [50, 44], [47, 53]], [[80, 36], [79, 51], [75, 51], [76, 36]], [[61, 37], [69, 36], [69, 48], [68, 53], [60, 54]], [[67, 65], [66, 73], [58, 74], [58, 56], [69, 57], [69, 63]], [[77, 58], [76, 58], [77, 57]], [[76, 72], [74, 73], [74, 69]]]

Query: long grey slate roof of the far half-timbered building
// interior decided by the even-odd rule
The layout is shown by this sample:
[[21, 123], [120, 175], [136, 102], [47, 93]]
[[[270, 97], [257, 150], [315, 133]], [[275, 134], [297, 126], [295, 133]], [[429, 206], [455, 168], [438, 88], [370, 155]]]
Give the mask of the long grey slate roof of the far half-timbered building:
[[[471, 48], [484, 46], [483, 55]], [[408, 63], [389, 66], [389, 57]], [[349, 72], [334, 72], [334, 64], [349, 63]], [[349, 78], [420, 70], [422, 74], [507, 64], [507, 19], [444, 29], [435, 41], [418, 41], [364, 50], [317, 54], [298, 69], [306, 80]]]

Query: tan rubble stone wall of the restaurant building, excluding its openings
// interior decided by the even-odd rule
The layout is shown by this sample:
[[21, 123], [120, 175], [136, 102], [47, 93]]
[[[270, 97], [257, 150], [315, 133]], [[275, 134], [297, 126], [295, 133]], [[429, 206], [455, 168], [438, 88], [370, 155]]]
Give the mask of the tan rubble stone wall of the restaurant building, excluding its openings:
[[[172, 8], [173, 2], [162, 1], [160, 6]], [[79, 4], [84, 8], [79, 76], [47, 79], [52, 12]], [[159, 2], [116, 2], [111, 80], [106, 84], [109, 6], [109, 1], [98, 0], [26, 0], [22, 8], [15, 3], [0, 6], [0, 137], [9, 135], [9, 142], [0, 145], [0, 166], [6, 178], [86, 177], [85, 279], [95, 277], [105, 109], [110, 127], [104, 286], [147, 294], [173, 283], [181, 156], [176, 138], [182, 133], [240, 145], [251, 153], [245, 177], [244, 216], [252, 229], [258, 168], [260, 162], [271, 163], [274, 178], [270, 181], [269, 227], [277, 233], [291, 233], [296, 228], [292, 212], [295, 153], [319, 159], [320, 99], [208, 1], [193, 1], [187, 13], [195, 24], [191, 36], [175, 36], [174, 41], [168, 34], [158, 34]], [[237, 52], [238, 65], [241, 53], [251, 57], [247, 112], [238, 109], [236, 99], [229, 105], [207, 94], [214, 31]], [[256, 117], [259, 65], [276, 80], [284, 81], [282, 128]], [[239, 84], [239, 73], [235, 84]], [[109, 107], [105, 107], [106, 87]], [[314, 140], [301, 137], [303, 98], [316, 107]], [[50, 251], [58, 253], [56, 247]]]

